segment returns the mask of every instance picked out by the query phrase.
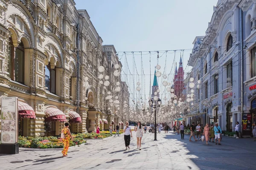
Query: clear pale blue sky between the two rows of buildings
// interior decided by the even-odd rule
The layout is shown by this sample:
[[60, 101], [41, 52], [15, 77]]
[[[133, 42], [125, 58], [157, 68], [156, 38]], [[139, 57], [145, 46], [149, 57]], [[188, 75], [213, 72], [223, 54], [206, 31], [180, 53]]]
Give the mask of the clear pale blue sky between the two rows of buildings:
[[[123, 65], [123, 73], [138, 74], [122, 75], [131, 90], [131, 97], [140, 99], [135, 90], [140, 81], [140, 94], [148, 98], [150, 85], [150, 62], [148, 52], [143, 53], [143, 71], [140, 76], [140, 53], [126, 53], [122, 51], [166, 51], [176, 49], [191, 49], [196, 36], [204, 36], [208, 23], [211, 20], [213, 6], [218, 0], [75, 0], [77, 9], [86, 9], [103, 44], [113, 44], [116, 51], [120, 51], [119, 58]], [[185, 73], [191, 51], [183, 53], [183, 67]], [[168, 82], [172, 83], [173, 63], [179, 63], [180, 52], [160, 53], [158, 63], [162, 74], [171, 73]], [[176, 57], [175, 57], [176, 56]], [[175, 57], [175, 61], [174, 61]], [[151, 84], [153, 82], [154, 66], [157, 63], [157, 54], [151, 53]], [[136, 65], [135, 65], [136, 64]], [[164, 69], [164, 66], [166, 68]], [[136, 66], [136, 67], [135, 67]], [[178, 64], [177, 64], [178, 66]], [[136, 71], [137, 68], [137, 71]], [[172, 69], [173, 68], [173, 69]], [[172, 70], [171, 70], [172, 69]], [[158, 78], [158, 84], [163, 78]], [[145, 84], [145, 85], [144, 85]], [[144, 88], [145, 86], [145, 88]], [[134, 88], [135, 87], [135, 88]], [[137, 97], [136, 97], [137, 94]], [[161, 87], [160, 96], [166, 96]]]

